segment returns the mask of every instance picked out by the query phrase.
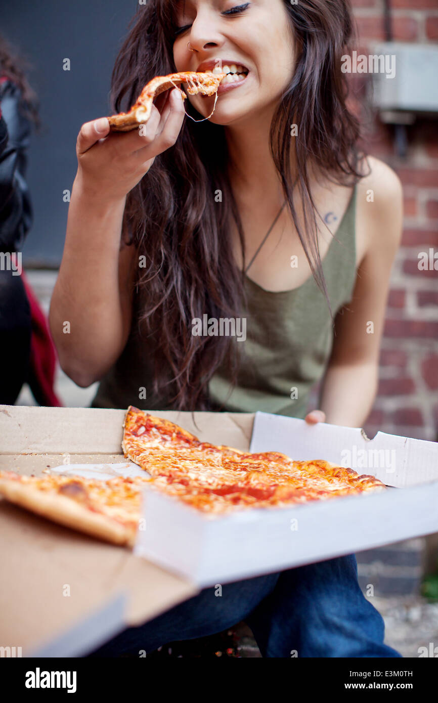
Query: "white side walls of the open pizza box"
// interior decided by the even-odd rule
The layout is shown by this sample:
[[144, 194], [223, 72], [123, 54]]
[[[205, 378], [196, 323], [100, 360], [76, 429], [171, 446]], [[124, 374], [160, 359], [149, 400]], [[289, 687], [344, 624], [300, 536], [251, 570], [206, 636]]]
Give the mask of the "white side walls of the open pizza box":
[[[225, 442], [223, 442], [225, 444]], [[134, 551], [211, 586], [277, 572], [438, 531], [438, 444], [361, 428], [255, 413], [250, 451], [325, 459], [371, 474], [387, 491], [288, 508], [207, 516], [144, 489]]]

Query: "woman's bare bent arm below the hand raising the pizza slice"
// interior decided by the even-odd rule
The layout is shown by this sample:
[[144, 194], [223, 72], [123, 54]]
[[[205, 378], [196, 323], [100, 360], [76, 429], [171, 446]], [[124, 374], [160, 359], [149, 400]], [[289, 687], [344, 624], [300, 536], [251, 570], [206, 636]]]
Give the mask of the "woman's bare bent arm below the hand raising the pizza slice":
[[78, 176], [73, 183], [49, 322], [60, 366], [82, 387], [110, 368], [129, 334], [134, 247], [119, 251], [124, 203], [89, 195]]

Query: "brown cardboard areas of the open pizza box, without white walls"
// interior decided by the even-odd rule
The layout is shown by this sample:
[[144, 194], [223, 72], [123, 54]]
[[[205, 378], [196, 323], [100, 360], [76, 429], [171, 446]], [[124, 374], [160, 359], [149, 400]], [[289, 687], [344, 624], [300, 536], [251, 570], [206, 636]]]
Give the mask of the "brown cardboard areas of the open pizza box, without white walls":
[[[120, 462], [124, 415], [96, 408], [0, 406], [0, 468], [38, 475], [63, 460]], [[249, 414], [160, 416], [207, 441], [238, 449], [250, 444]], [[126, 624], [141, 624], [198, 592], [187, 579], [129, 550], [7, 501], [0, 501], [0, 531], [0, 646], [22, 647], [22, 656], [80, 656]], [[63, 595], [68, 588], [70, 595]]]

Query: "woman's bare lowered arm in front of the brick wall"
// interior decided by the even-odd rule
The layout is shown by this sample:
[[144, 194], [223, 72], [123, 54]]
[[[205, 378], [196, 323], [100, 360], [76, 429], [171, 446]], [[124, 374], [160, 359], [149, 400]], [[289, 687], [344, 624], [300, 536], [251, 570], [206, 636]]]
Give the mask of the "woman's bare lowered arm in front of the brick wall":
[[[382, 162], [369, 162], [372, 172], [358, 186], [356, 211], [356, 231], [368, 246], [357, 270], [352, 301], [335, 318], [319, 406], [327, 423], [346, 427], [362, 427], [373, 406], [389, 277], [402, 231], [399, 178]], [[374, 202], [366, 199], [370, 189]], [[324, 421], [318, 411], [306, 419], [309, 423]]]

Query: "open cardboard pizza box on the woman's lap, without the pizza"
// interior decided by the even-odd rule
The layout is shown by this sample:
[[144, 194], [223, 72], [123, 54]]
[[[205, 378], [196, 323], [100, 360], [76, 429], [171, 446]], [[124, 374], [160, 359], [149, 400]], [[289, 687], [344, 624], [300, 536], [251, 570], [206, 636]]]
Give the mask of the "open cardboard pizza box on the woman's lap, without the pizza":
[[[21, 647], [15, 656], [82, 656], [202, 586], [438, 531], [434, 442], [382, 432], [368, 440], [360, 429], [265, 413], [152, 414], [213, 444], [323, 458], [394, 488], [214, 518], [146, 488], [133, 552], [0, 501], [0, 646]], [[120, 465], [124, 415], [0, 406], [0, 468]]]

